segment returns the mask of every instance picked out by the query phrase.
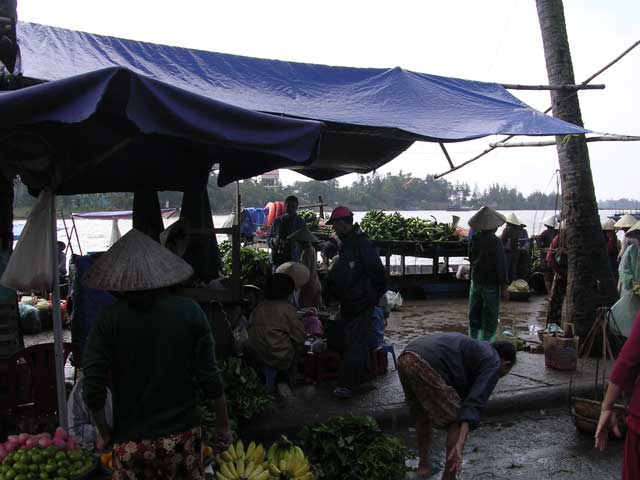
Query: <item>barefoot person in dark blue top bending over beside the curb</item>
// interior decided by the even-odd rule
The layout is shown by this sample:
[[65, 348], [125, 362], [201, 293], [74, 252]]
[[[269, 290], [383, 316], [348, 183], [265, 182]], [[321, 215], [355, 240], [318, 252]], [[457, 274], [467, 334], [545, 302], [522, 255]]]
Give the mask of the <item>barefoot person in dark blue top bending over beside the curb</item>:
[[506, 341], [478, 342], [459, 333], [438, 333], [412, 340], [398, 358], [398, 374], [416, 418], [417, 474], [434, 473], [430, 449], [434, 428], [447, 429], [443, 479], [454, 479], [462, 451], [480, 421], [496, 386], [516, 362], [516, 349]]

